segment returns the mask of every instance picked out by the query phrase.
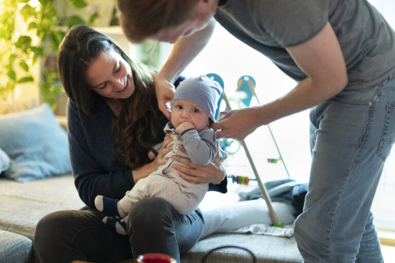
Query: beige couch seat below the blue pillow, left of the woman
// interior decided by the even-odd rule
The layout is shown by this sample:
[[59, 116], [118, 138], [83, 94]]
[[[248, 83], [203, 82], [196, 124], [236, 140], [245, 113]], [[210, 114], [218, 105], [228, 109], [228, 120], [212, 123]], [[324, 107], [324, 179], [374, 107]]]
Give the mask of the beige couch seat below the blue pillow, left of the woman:
[[28, 183], [0, 179], [0, 229], [33, 238], [37, 222], [59, 210], [78, 210], [84, 203], [71, 175]]

